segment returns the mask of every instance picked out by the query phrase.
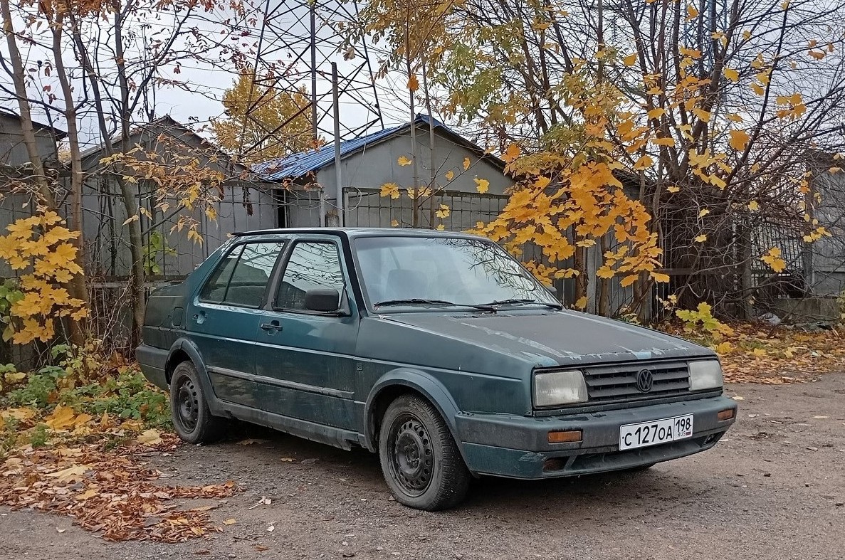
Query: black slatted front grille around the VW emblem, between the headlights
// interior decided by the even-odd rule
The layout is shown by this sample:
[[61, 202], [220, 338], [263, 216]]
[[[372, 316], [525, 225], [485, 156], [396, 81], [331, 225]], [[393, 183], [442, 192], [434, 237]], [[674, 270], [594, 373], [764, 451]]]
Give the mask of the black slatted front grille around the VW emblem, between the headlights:
[[[651, 371], [653, 379], [646, 393], [637, 389], [637, 375], [644, 369]], [[591, 403], [661, 399], [690, 391], [690, 373], [684, 362], [589, 367], [583, 371]]]

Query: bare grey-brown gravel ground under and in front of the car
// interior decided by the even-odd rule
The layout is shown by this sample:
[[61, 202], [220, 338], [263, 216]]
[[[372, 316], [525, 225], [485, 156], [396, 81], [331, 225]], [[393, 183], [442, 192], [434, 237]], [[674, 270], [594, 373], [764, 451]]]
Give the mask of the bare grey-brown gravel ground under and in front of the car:
[[[482, 479], [461, 508], [439, 514], [392, 501], [366, 452], [259, 430], [250, 437], [269, 441], [182, 446], [150, 458], [168, 483], [247, 489], [212, 510], [221, 526], [236, 519], [224, 532], [111, 543], [70, 518], [0, 508], [0, 558], [845, 557], [845, 373], [726, 393], [744, 398], [739, 421], [706, 453], [637, 474]], [[272, 502], [256, 506], [261, 497]]]

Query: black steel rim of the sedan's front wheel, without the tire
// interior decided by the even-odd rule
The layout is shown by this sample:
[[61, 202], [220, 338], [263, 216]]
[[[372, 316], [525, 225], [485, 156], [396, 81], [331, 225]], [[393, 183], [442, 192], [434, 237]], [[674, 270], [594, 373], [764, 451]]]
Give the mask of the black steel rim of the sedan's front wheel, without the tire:
[[410, 413], [398, 416], [390, 427], [390, 475], [411, 497], [422, 496], [431, 485], [434, 449], [423, 421]]

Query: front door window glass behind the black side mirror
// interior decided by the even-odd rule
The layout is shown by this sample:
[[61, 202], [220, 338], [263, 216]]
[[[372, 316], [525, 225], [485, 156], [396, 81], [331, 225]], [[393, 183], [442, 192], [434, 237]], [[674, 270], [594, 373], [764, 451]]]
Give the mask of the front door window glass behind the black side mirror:
[[343, 291], [341, 255], [334, 243], [299, 242], [293, 247], [282, 276], [275, 308], [305, 310], [305, 293], [326, 288]]

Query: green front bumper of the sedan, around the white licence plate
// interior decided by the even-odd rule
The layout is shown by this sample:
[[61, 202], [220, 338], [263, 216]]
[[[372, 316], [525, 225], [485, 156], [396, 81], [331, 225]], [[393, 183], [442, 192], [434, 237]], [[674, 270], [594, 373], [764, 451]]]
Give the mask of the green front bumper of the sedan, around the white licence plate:
[[[718, 420], [728, 409], [733, 417]], [[630, 469], [710, 449], [736, 420], [736, 409], [735, 401], [720, 396], [562, 416], [461, 413], [455, 423], [473, 473], [548, 478]], [[619, 427], [687, 414], [693, 415], [692, 438], [619, 451]], [[581, 442], [548, 443], [555, 430], [581, 430]]]

